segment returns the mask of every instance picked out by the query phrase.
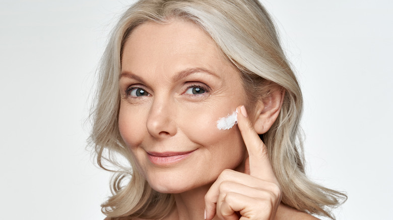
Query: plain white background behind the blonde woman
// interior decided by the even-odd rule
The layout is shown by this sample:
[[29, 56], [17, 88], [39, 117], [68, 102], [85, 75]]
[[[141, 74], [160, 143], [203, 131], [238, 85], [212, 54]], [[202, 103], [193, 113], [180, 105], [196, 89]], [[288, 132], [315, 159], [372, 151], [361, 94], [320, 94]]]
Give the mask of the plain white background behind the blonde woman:
[[[85, 120], [130, 2], [0, 3], [0, 218], [103, 219], [109, 174], [85, 150]], [[338, 219], [392, 219], [392, 2], [263, 3], [304, 92], [307, 173], [348, 193]]]

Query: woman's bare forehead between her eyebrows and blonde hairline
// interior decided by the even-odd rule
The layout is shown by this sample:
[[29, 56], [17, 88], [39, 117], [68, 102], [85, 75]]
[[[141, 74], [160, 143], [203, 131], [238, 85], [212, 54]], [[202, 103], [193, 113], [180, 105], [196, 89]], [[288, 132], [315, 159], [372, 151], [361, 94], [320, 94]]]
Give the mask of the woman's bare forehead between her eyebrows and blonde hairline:
[[134, 73], [234, 69], [204, 30], [180, 19], [164, 24], [147, 22], [135, 28], [124, 44], [121, 68]]

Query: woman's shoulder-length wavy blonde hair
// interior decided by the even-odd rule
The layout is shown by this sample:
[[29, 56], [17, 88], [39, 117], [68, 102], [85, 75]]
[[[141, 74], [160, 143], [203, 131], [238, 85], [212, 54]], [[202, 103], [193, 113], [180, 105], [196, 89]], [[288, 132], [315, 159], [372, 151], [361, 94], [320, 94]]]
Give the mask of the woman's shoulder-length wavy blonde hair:
[[[112, 179], [112, 196], [102, 204], [109, 217], [162, 218], [174, 204], [173, 196], [154, 191], [138, 170], [118, 131], [120, 94], [118, 77], [122, 47], [135, 27], [146, 22], [165, 23], [185, 19], [198, 24], [216, 42], [225, 57], [239, 70], [251, 99], [263, 96], [262, 85], [285, 90], [280, 115], [263, 136], [272, 165], [282, 187], [282, 202], [303, 212], [334, 216], [330, 208], [346, 195], [310, 181], [304, 171], [299, 122], [302, 94], [281, 48], [275, 25], [257, 0], [141, 0], [120, 18], [101, 60], [99, 87], [93, 106], [94, 146], [100, 167], [106, 162], [119, 167]], [[125, 167], [116, 155], [123, 156]]]

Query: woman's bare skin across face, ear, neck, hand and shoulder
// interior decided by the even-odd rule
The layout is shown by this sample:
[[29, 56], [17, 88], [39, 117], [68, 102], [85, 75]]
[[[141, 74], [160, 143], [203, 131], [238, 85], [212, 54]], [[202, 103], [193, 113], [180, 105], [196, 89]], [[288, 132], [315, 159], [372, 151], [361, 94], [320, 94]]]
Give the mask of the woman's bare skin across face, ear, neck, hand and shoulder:
[[[238, 71], [197, 25], [137, 27], [123, 48], [119, 89], [119, 131], [137, 169], [153, 189], [174, 194], [164, 219], [203, 219], [204, 211], [206, 219], [316, 219], [280, 204], [257, 135], [277, 119], [284, 93], [247, 103]], [[218, 130], [216, 121], [236, 108], [238, 126]], [[157, 164], [152, 152], [191, 153]]]

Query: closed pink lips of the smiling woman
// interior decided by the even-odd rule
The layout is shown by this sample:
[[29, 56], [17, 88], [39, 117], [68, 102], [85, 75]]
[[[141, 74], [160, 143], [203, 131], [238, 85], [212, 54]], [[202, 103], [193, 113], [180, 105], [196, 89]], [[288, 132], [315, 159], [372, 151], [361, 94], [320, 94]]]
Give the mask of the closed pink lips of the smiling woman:
[[156, 165], [169, 165], [187, 158], [193, 151], [187, 152], [147, 152], [150, 162]]

